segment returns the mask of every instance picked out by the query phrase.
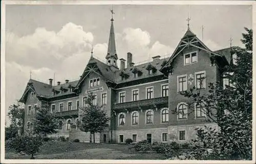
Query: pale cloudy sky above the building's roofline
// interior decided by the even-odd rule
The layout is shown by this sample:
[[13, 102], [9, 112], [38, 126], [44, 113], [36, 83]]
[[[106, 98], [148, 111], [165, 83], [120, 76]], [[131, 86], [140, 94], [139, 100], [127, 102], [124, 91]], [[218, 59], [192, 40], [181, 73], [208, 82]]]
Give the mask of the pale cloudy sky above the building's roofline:
[[[111, 5], [6, 6], [6, 111], [22, 97], [31, 76], [49, 83], [75, 80], [91, 56], [105, 61]], [[252, 28], [249, 5], [114, 5], [118, 58], [133, 62], [170, 57], [190, 29], [211, 50], [242, 46], [244, 27]], [[202, 25], [204, 27], [202, 33]], [[203, 38], [202, 38], [203, 34]], [[118, 61], [119, 65], [119, 61]]]

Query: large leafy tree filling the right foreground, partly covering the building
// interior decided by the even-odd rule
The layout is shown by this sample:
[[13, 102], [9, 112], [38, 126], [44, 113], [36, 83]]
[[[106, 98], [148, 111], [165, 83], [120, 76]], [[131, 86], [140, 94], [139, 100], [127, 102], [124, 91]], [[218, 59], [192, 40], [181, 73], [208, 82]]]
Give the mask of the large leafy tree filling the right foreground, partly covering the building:
[[252, 159], [252, 30], [245, 30], [241, 40], [245, 48], [231, 49], [237, 54], [237, 64], [223, 70], [232, 85], [223, 89], [218, 83], [209, 83], [207, 94], [202, 95], [195, 88], [181, 93], [190, 98], [191, 104], [203, 102], [208, 121], [217, 123], [219, 128], [197, 129], [195, 147], [187, 158]]

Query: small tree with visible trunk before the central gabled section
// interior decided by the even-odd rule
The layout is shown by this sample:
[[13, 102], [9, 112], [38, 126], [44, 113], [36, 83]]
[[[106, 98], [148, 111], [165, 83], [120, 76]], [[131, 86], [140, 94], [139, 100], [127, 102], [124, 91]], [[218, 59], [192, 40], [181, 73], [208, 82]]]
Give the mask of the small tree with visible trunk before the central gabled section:
[[93, 103], [92, 94], [87, 97], [86, 105], [81, 110], [81, 120], [78, 126], [82, 131], [93, 133], [93, 143], [95, 143], [95, 133], [108, 127], [110, 118], [106, 115], [103, 106]]

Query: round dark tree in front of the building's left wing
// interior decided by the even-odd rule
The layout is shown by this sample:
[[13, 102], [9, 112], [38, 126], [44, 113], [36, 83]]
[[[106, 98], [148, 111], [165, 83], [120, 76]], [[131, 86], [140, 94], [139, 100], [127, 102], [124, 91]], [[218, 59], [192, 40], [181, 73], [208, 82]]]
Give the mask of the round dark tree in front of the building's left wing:
[[48, 104], [41, 105], [41, 107], [35, 107], [36, 116], [33, 121], [34, 132], [44, 133], [44, 136], [48, 133], [56, 133], [59, 128], [59, 119], [51, 113], [51, 109]]

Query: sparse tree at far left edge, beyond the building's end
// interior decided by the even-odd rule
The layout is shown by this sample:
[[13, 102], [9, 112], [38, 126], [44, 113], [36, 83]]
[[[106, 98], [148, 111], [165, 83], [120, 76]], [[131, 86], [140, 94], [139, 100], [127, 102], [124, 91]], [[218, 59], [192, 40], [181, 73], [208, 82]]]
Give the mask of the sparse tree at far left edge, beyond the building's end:
[[9, 112], [7, 116], [11, 120], [10, 128], [7, 130], [20, 131], [22, 134], [24, 133], [24, 116], [25, 110], [19, 104], [13, 104], [9, 106]]

